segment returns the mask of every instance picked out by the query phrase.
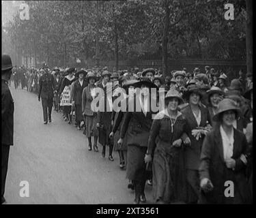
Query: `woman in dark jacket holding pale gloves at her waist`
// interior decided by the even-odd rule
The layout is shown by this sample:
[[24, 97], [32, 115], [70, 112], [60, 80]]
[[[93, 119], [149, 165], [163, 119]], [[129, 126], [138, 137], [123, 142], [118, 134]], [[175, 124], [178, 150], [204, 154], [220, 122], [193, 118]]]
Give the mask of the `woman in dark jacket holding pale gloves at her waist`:
[[208, 109], [201, 106], [200, 100], [202, 94], [196, 85], [191, 85], [190, 89], [185, 91], [184, 99], [188, 100], [188, 106], [182, 109], [182, 114], [185, 116], [188, 123], [188, 137], [191, 141], [191, 146], [186, 146], [185, 166], [186, 166], [186, 181], [187, 181], [187, 202], [196, 204], [199, 198], [199, 161], [203, 138], [208, 132], [211, 125], [210, 114]]

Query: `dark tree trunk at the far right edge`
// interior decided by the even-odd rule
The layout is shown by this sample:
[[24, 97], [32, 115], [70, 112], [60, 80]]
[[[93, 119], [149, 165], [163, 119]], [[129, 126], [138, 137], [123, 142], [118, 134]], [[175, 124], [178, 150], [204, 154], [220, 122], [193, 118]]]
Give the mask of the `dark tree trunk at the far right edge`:
[[253, 74], [253, 0], [246, 0], [246, 65]]

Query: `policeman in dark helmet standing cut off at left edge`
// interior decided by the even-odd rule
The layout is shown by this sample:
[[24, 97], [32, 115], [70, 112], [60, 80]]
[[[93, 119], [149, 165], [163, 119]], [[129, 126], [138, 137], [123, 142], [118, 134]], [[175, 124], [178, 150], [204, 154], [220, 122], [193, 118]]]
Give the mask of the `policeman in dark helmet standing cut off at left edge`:
[[13, 145], [14, 137], [14, 101], [8, 87], [8, 81], [12, 75], [12, 60], [9, 55], [2, 55], [2, 183], [1, 183], [1, 204], [5, 203], [5, 180], [8, 170], [8, 159], [10, 146]]

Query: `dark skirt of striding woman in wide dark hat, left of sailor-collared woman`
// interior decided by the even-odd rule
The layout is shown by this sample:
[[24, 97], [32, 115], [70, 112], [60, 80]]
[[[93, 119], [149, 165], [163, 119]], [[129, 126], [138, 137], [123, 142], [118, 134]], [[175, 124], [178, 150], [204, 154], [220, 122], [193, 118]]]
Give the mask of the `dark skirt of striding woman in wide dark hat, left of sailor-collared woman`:
[[146, 175], [144, 161], [147, 147], [129, 144], [127, 148], [126, 177], [130, 180], [141, 181]]

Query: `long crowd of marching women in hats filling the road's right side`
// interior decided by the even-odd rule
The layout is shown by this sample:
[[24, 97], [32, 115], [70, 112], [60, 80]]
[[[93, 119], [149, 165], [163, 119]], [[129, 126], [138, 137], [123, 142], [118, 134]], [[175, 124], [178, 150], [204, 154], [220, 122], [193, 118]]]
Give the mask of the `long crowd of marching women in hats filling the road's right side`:
[[[14, 81], [16, 74], [14, 69]], [[83, 129], [89, 151], [98, 152], [99, 143], [102, 157], [109, 148], [110, 161], [113, 151], [118, 152], [119, 167], [126, 170], [135, 203], [146, 202], [146, 184], [152, 185], [157, 203], [252, 201], [252, 74], [244, 78], [241, 73], [229, 81], [225, 73], [208, 66], [193, 72], [184, 68], [166, 77], [152, 68], [111, 73], [104, 67], [99, 73], [44, 67], [25, 71], [24, 87], [38, 93], [43, 74], [52, 74], [55, 80], [54, 109], [63, 112], [67, 123]], [[105, 108], [119, 97], [120, 88], [126, 94], [122, 101], [129, 106], [134, 99], [128, 96], [135, 93], [128, 89], [143, 89], [139, 103], [133, 104], [140, 104], [142, 110], [93, 110], [96, 87], [104, 91]], [[152, 88], [165, 91], [163, 110], [156, 112], [147, 104], [152, 101]]]

